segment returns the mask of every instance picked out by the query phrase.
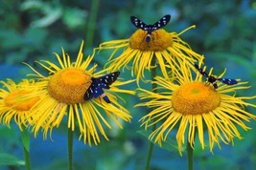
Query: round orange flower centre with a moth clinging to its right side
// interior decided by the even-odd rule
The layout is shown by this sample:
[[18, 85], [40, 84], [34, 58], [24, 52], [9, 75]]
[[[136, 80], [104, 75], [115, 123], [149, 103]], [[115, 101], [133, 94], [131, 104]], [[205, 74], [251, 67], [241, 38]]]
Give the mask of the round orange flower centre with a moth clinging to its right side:
[[81, 103], [84, 101], [84, 93], [91, 85], [91, 77], [90, 73], [78, 68], [64, 69], [50, 78], [47, 90], [59, 102]]

